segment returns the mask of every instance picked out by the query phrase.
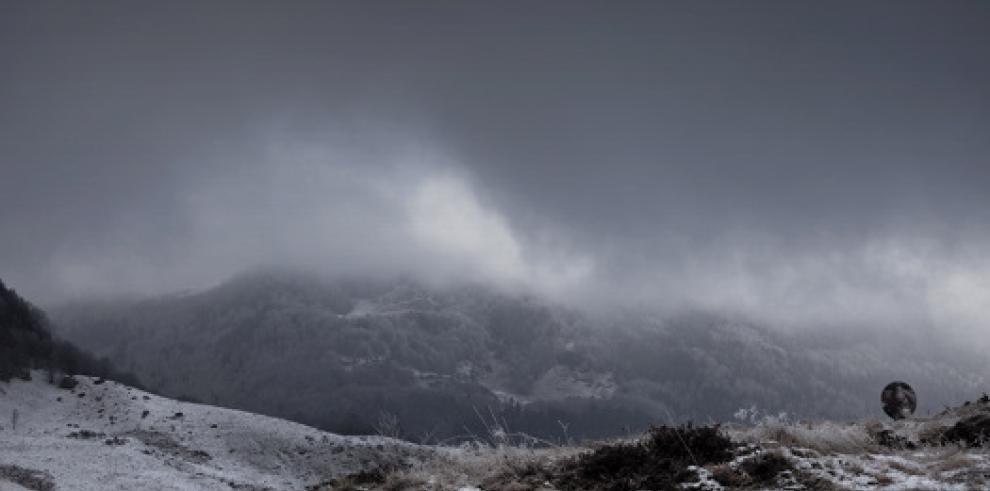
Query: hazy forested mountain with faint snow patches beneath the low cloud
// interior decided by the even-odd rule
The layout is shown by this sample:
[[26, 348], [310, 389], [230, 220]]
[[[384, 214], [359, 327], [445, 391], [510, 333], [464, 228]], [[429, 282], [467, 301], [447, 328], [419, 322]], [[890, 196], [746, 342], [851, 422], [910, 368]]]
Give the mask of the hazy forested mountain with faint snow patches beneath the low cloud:
[[255, 272], [215, 288], [53, 311], [59, 333], [162, 393], [402, 436], [484, 432], [495, 415], [545, 438], [622, 434], [670, 420], [880, 414], [911, 383], [919, 412], [984, 390], [973, 352], [918, 331], [775, 330], [684, 313], [587, 313], [481, 285], [325, 280]]

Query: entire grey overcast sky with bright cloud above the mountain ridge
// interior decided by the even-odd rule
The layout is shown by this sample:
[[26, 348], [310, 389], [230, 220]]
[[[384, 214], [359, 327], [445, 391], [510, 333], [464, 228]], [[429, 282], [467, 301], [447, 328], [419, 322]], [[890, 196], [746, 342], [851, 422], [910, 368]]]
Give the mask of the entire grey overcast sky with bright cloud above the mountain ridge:
[[0, 3], [0, 278], [990, 314], [990, 3]]

